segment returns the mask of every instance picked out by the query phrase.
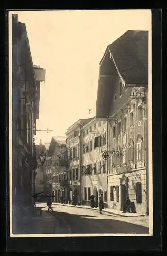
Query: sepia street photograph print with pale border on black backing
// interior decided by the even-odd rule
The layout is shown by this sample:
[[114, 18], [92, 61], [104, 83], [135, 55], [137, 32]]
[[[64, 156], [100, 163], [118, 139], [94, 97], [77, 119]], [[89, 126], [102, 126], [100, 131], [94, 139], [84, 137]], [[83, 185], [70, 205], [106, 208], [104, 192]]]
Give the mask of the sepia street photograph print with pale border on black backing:
[[10, 237], [153, 235], [151, 26], [9, 11]]

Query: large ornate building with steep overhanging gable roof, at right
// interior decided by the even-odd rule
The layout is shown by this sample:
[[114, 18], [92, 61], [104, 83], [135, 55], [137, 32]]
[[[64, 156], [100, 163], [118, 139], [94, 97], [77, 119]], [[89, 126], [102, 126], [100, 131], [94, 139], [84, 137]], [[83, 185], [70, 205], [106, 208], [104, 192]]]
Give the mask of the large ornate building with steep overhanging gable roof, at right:
[[127, 31], [100, 62], [96, 117], [108, 120], [108, 207], [148, 214], [148, 32]]

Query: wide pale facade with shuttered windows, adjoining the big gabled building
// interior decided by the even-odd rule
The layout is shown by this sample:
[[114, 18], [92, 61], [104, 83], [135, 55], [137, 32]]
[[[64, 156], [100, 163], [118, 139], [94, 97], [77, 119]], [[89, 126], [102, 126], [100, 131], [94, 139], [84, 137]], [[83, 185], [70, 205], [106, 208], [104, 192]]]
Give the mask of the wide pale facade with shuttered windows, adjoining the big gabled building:
[[102, 194], [107, 207], [107, 165], [102, 154], [107, 148], [107, 121], [92, 120], [81, 128], [82, 200], [90, 204], [90, 196]]

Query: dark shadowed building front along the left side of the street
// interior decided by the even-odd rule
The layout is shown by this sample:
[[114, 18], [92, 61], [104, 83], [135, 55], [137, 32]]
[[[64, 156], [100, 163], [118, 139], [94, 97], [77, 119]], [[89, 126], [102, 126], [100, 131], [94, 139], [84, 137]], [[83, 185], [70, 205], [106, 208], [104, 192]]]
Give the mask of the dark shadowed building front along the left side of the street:
[[[43, 70], [43, 69], [42, 69]], [[45, 72], [44, 72], [45, 73]], [[26, 26], [12, 15], [12, 191], [16, 205], [33, 205], [36, 169], [34, 135], [39, 116], [40, 81], [36, 83]], [[14, 223], [14, 222], [13, 222]]]

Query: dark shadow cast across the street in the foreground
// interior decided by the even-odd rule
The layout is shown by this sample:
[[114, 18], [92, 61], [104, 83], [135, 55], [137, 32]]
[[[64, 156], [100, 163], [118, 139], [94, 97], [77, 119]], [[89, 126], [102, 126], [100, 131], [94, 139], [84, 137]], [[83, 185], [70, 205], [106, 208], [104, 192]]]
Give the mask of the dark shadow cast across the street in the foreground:
[[149, 234], [149, 228], [121, 220], [97, 219], [96, 216], [92, 215], [76, 215], [57, 211], [52, 214], [58, 221], [59, 219], [65, 220], [70, 226], [71, 232], [76, 234]]

